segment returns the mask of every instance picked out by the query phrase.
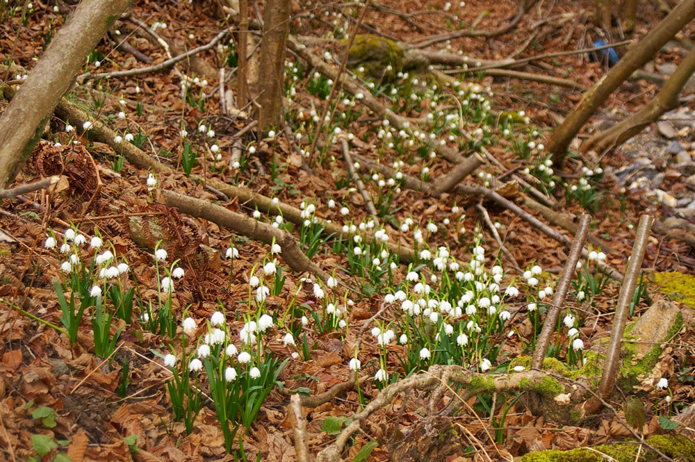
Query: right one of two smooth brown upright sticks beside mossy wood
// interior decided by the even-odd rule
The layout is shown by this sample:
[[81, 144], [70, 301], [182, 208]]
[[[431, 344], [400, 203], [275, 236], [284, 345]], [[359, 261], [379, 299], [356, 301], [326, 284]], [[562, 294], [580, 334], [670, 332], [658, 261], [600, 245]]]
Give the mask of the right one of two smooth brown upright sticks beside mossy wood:
[[632, 247], [630, 254], [630, 263], [625, 272], [623, 286], [620, 288], [618, 303], [615, 307], [615, 316], [613, 318], [613, 328], [610, 331], [610, 345], [606, 353], [605, 363], [603, 363], [603, 374], [601, 374], [601, 383], [598, 386], [598, 395], [603, 399], [610, 398], [615, 385], [615, 373], [620, 360], [620, 348], [623, 340], [623, 332], [625, 332], [625, 324], [628, 320], [628, 311], [630, 308], [630, 300], [632, 294], [635, 293], [637, 286], [637, 278], [641, 272], [642, 261], [644, 260], [644, 251], [647, 247], [649, 234], [653, 218], [650, 215], [642, 215], [639, 217], [637, 224], [637, 236], [635, 237], [635, 245]]

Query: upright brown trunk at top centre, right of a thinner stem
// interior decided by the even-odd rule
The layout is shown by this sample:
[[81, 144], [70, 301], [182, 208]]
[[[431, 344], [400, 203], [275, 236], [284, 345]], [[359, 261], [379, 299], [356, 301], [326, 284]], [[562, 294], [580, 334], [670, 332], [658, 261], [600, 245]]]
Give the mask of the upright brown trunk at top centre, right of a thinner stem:
[[282, 119], [282, 90], [285, 81], [285, 53], [290, 32], [290, 0], [268, 0], [263, 12], [263, 42], [259, 73], [259, 126], [262, 131], [277, 128]]

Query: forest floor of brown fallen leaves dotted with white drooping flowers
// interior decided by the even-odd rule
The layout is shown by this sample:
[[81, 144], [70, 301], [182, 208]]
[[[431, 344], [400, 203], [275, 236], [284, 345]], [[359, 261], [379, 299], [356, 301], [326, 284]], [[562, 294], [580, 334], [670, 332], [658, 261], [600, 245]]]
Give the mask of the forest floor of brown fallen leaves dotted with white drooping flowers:
[[[134, 3], [131, 16], [178, 49], [208, 43], [227, 21], [218, 2]], [[347, 39], [361, 11], [354, 3], [299, 3], [304, 4], [298, 7], [295, 2], [291, 24], [291, 34], [297, 38]], [[664, 15], [653, 6], [656, 2], [642, 3], [637, 36]], [[27, 8], [24, 2], [10, 0], [0, 8], [6, 9], [0, 13], [5, 19], [0, 23], [0, 64], [11, 61], [18, 66], [0, 68], [0, 76], [3, 81], [20, 80], [33, 67], [34, 58], [40, 58], [65, 15], [41, 1]], [[468, 56], [473, 66], [475, 60], [501, 60], [515, 51], [520, 59], [591, 47], [601, 38], [592, 25], [593, 8], [589, 0], [539, 1], [508, 33], [456, 38], [430, 49]], [[475, 0], [463, 5], [385, 0], [373, 2], [364, 24], [414, 44], [455, 31], [459, 24], [493, 31], [515, 15], [512, 1]], [[122, 25], [123, 34], [126, 27], [133, 29], [133, 22], [124, 20]], [[146, 35], [133, 33], [131, 43], [154, 64], [165, 60], [165, 50]], [[344, 42], [326, 40], [307, 47], [317, 59], [337, 68]], [[686, 53], [676, 45], [664, 48], [652, 69], [660, 72], [664, 65], [678, 64]], [[183, 61], [177, 71], [78, 83], [67, 97], [94, 117], [92, 121], [101, 120], [125, 142], [175, 172], [138, 170], [118, 148], [90, 140], [90, 131], [83, 131], [79, 121], [53, 117], [17, 184], [57, 174], [62, 178], [58, 188], [18, 200], [3, 199], [0, 460], [60, 461], [67, 454], [74, 462], [244, 457], [291, 461], [297, 454], [294, 420], [288, 411], [290, 395], [318, 395], [348, 381], [350, 361], [354, 365], [356, 355], [359, 386], [306, 408], [306, 435], [313, 454], [332, 443], [350, 424], [350, 417], [389, 383], [433, 364], [458, 363], [475, 371], [505, 373], [514, 358], [533, 354], [541, 314], [550, 304], [569, 254], [566, 245], [499, 204], [458, 192], [429, 197], [405, 188], [400, 175], [389, 180], [357, 165], [377, 211], [378, 216], [371, 217], [347, 172], [340, 136], [349, 134], [352, 154], [430, 181], [450, 166], [441, 156], [430, 155], [434, 148], [427, 145], [427, 136], [394, 129], [361, 106], [359, 95], [339, 92], [334, 98], [338, 106], [324, 124], [317, 153], [302, 159], [315, 136], [332, 81], [296, 53], [288, 53], [286, 119], [293, 136], [279, 131], [257, 139], [253, 130], [245, 130], [249, 119], [222, 113], [214, 91], [219, 85], [218, 66], [236, 67], [234, 46], [220, 45], [200, 56], [208, 63], [207, 72], [213, 72], [205, 75], [202, 65], [195, 74], [194, 63], [189, 67]], [[85, 72], [146, 65], [115, 49], [113, 40], [103, 40], [90, 55]], [[519, 70], [572, 79], [589, 88], [606, 67], [580, 53], [532, 61]], [[183, 95], [179, 72], [196, 77]], [[262, 69], [256, 65], [254, 71], [252, 65], [254, 72]], [[559, 213], [571, 219], [591, 214], [591, 232], [610, 243], [610, 249], [591, 245], [594, 258], [582, 260], [584, 267], [578, 270], [562, 307], [564, 323], [553, 338], [554, 356], [569, 368], [580, 368], [582, 351], [612, 329], [620, 288], [598, 269], [597, 261], [623, 272], [641, 214], [678, 215], [695, 222], [694, 209], [689, 208], [695, 204], [695, 180], [690, 176], [695, 169], [689, 171], [695, 151], [694, 99], [686, 98], [676, 111], [669, 125], [673, 133], [667, 127], [652, 126], [623, 150], [595, 158], [571, 156], [566, 167], [555, 172], [543, 142], [580, 100], [579, 90], [478, 73], [461, 78], [460, 92], [416, 72], [395, 75], [391, 81], [362, 77], [385, 106], [425, 127], [423, 135], [432, 133], [464, 154], [489, 152], [464, 183], [498, 188], [518, 174], [543, 191]], [[236, 92], [234, 79], [227, 88]], [[19, 82], [13, 85], [18, 88]], [[658, 88], [645, 80], [624, 83], [592, 119], [589, 130], [639, 108]], [[0, 102], [0, 110], [5, 107], [6, 102]], [[326, 130], [332, 143], [323, 142]], [[216, 188], [193, 181], [193, 176], [220, 179], [277, 198], [301, 209], [306, 223], [292, 223], [277, 214], [254, 211], [236, 199], [227, 200]], [[293, 272], [270, 243], [159, 204], [159, 190], [214, 201], [227, 211], [286, 229], [332, 279], [321, 281], [315, 274]], [[509, 197], [518, 199], [514, 194]], [[484, 213], [489, 214], [513, 261], [500, 251]], [[361, 237], [328, 238], [313, 217], [339, 226], [354, 225], [351, 232]], [[545, 221], [540, 215], [539, 219]], [[572, 238], [567, 231], [549, 226]], [[385, 239], [370, 240], [373, 233], [387, 236], [390, 243], [400, 242], [399, 247], [416, 249], [414, 263], [404, 263], [399, 247], [389, 249]], [[101, 242], [92, 240], [94, 236], [100, 236]], [[80, 244], [83, 238], [85, 243]], [[156, 258], [156, 250], [162, 248], [166, 256], [160, 253]], [[111, 256], [104, 255], [107, 249]], [[478, 260], [482, 270], [477, 270]], [[109, 274], [119, 263], [126, 265]], [[516, 264], [521, 273], [514, 271]], [[104, 273], [99, 274], [101, 268]], [[183, 270], [182, 277], [177, 268]], [[664, 292], [653, 283], [658, 279], [654, 274], [692, 274], [694, 268], [692, 247], [677, 236], [653, 235], [640, 281], [640, 288], [646, 290], [637, 296], [631, 320], [657, 297], [682, 302], [679, 295], [687, 296], [692, 290], [685, 283], [682, 289]], [[523, 274], [526, 271], [532, 273]], [[263, 287], [268, 294], [263, 295]], [[132, 297], [130, 303], [122, 300], [127, 295]], [[695, 307], [695, 294], [691, 295], [694, 298], [685, 302]], [[59, 319], [70, 313], [69, 306], [61, 311], [61, 302], [67, 306], [71, 299], [87, 305], [81, 323]], [[418, 307], [420, 301], [423, 306]], [[530, 305], [536, 309], [529, 310]], [[224, 313], [224, 322], [211, 318], [215, 312]], [[107, 318], [106, 324], [100, 315]], [[266, 322], [263, 315], [272, 319]], [[184, 331], [187, 317], [195, 321], [195, 327]], [[363, 329], [366, 320], [373, 323]], [[74, 332], [68, 332], [68, 324]], [[213, 335], [208, 329], [215, 326], [224, 330], [224, 341], [208, 345], [204, 336]], [[662, 434], [667, 427], [664, 422], [668, 424], [669, 418], [695, 402], [694, 335], [695, 327], [686, 324], [678, 340], [659, 356], [655, 366], [659, 377], [643, 377], [639, 393], [621, 390], [639, 399], [643, 410], [638, 414], [644, 420], [639, 432], [644, 438]], [[253, 336], [255, 342], [245, 342], [243, 336]], [[578, 345], [577, 338], [583, 347], [573, 347]], [[227, 356], [220, 352], [221, 345]], [[232, 354], [229, 345], [238, 352], [250, 352], [250, 363], [239, 361], [241, 356]], [[232, 401], [240, 402], [243, 409], [232, 420], [240, 428], [233, 442], [222, 431], [211, 397], [215, 386], [210, 374], [214, 372], [188, 373], [193, 357], [211, 364], [210, 347], [212, 356], [224, 357], [224, 364], [213, 364], [222, 377], [227, 365], [238, 374], [236, 383], [241, 388], [234, 393], [240, 398]], [[167, 354], [174, 355], [173, 367]], [[257, 380], [265, 388], [259, 389], [267, 397], [248, 388], [256, 383], [252, 365], [261, 374]], [[172, 379], [172, 370], [183, 385]], [[657, 388], [662, 377], [667, 387]], [[281, 386], [273, 386], [276, 380]], [[187, 395], [179, 409], [172, 405], [172, 390]], [[196, 396], [199, 410], [192, 404]], [[430, 412], [425, 407], [427, 397], [429, 392], [414, 390], [377, 411], [362, 423], [363, 431], [352, 436], [343, 456], [356, 461], [388, 459], [389, 448]], [[532, 414], [525, 401], [517, 398], [515, 393], [482, 393], [468, 399], [467, 410], [455, 418], [462, 436], [446, 459], [512, 460], [540, 449], [572, 449], [631, 436], [620, 423], [626, 417], [627, 399], [616, 403], [618, 415], [605, 411], [573, 425], [559, 425]], [[440, 411], [449, 399], [442, 399], [434, 411]], [[259, 404], [255, 410], [254, 403]], [[184, 424], [186, 409], [198, 411], [189, 419], [189, 428]]]

